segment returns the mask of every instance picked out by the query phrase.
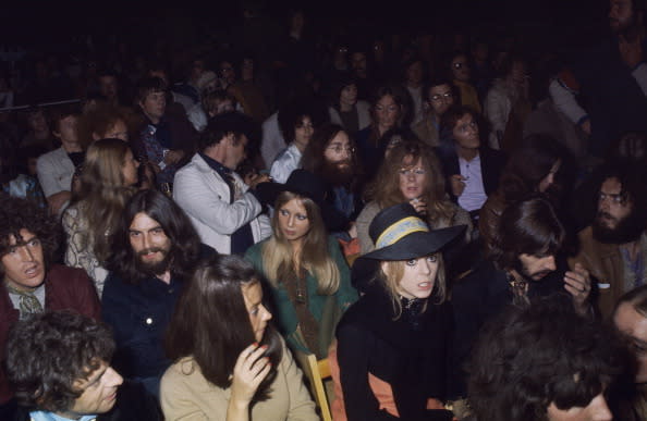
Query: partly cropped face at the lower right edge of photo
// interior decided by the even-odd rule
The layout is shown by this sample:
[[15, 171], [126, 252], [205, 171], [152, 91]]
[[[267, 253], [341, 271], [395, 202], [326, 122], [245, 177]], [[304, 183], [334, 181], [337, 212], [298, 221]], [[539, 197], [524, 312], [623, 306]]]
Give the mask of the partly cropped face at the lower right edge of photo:
[[631, 302], [623, 302], [613, 315], [613, 323], [630, 339], [636, 357], [635, 382], [647, 383], [647, 317], [637, 312]]

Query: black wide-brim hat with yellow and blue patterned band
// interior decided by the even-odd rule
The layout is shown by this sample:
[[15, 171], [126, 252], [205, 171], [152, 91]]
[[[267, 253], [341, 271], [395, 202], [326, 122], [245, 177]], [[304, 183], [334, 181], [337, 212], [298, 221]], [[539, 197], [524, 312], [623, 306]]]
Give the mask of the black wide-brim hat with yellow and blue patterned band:
[[439, 251], [465, 231], [465, 225], [430, 230], [410, 203], [382, 209], [368, 227], [375, 250], [361, 256], [352, 268], [353, 285], [366, 290], [379, 262], [417, 259]]

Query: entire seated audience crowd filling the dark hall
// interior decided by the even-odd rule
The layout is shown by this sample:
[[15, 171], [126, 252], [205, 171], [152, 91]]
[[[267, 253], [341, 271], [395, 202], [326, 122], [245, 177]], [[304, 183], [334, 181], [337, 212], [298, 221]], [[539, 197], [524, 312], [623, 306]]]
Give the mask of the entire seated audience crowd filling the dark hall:
[[305, 352], [334, 420], [647, 419], [644, 13], [42, 62], [81, 100], [2, 114], [0, 418], [318, 420]]

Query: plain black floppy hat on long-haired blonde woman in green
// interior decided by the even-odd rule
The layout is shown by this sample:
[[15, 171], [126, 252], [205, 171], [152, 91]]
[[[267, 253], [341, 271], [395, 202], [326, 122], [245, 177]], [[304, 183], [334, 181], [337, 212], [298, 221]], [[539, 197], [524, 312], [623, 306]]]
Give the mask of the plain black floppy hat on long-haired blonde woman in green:
[[256, 186], [256, 195], [263, 205], [274, 206], [277, 197], [283, 191], [295, 193], [312, 199], [321, 211], [321, 219], [330, 232], [345, 228], [346, 218], [332, 205], [326, 201], [326, 185], [307, 170], [294, 170], [285, 183], [260, 183]]

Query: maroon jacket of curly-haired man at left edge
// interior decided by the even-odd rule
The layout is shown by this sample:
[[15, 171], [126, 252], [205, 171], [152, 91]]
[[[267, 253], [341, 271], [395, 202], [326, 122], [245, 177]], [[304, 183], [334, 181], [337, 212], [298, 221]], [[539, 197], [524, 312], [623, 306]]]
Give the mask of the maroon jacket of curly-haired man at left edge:
[[[99, 320], [100, 306], [94, 283], [83, 269], [53, 265], [45, 278], [45, 310], [74, 310]], [[4, 360], [4, 346], [10, 327], [17, 322], [19, 310], [13, 308], [4, 283], [0, 283], [0, 357]], [[3, 364], [0, 364], [0, 403], [13, 393], [7, 383]]]

